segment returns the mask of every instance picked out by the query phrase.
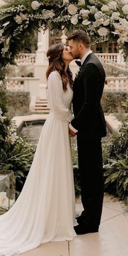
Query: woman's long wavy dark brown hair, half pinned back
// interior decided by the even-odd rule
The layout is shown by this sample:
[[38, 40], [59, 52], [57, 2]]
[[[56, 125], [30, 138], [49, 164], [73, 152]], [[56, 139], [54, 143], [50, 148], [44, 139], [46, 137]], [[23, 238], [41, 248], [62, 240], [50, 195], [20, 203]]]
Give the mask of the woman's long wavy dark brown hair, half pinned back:
[[49, 74], [52, 71], [56, 70], [57, 72], [59, 72], [62, 78], [63, 90], [66, 91], [68, 82], [69, 82], [69, 85], [72, 87], [73, 78], [72, 78], [72, 72], [69, 66], [67, 68], [67, 71], [65, 72], [65, 61], [62, 59], [63, 48], [64, 48], [63, 43], [56, 43], [56, 45], [52, 45], [49, 47], [47, 51], [49, 66], [46, 72], [46, 78], [48, 79]]

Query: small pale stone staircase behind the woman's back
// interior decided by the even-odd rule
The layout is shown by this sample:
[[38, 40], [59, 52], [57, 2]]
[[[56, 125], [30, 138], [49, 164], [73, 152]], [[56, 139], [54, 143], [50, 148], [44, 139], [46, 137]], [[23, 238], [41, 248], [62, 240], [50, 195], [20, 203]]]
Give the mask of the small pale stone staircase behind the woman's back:
[[49, 114], [49, 108], [47, 107], [48, 101], [43, 98], [36, 98], [35, 113]]

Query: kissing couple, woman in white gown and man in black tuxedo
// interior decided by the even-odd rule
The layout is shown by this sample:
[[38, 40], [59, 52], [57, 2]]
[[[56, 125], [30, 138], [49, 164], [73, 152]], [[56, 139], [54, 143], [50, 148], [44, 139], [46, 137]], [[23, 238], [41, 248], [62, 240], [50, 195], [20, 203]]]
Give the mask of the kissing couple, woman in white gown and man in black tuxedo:
[[[50, 113], [20, 196], [0, 216], [0, 255], [12, 256], [49, 241], [98, 232], [104, 198], [101, 138], [106, 124], [101, 96], [105, 71], [84, 30], [68, 36], [69, 47], [49, 47], [47, 98]], [[69, 63], [80, 59], [74, 82]], [[71, 111], [73, 104], [73, 113]], [[77, 137], [81, 201], [75, 218], [71, 136]]]

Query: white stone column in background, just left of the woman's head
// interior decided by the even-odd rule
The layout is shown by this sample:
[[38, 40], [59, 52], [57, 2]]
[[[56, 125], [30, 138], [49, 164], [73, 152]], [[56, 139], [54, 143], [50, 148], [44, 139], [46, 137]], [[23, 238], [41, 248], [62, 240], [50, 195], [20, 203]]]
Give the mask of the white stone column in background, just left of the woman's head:
[[39, 91], [40, 97], [46, 99], [46, 71], [48, 68], [48, 59], [46, 52], [49, 48], [49, 30], [39, 32], [37, 51], [34, 65], [34, 76], [40, 78]]

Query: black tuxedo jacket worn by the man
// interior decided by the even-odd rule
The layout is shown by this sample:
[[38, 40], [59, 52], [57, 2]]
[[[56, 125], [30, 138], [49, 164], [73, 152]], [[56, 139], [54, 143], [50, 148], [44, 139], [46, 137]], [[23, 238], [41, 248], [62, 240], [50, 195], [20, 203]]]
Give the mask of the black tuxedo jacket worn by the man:
[[90, 53], [80, 67], [73, 84], [72, 126], [78, 130], [78, 140], [106, 136], [106, 122], [101, 97], [105, 71], [94, 53]]

